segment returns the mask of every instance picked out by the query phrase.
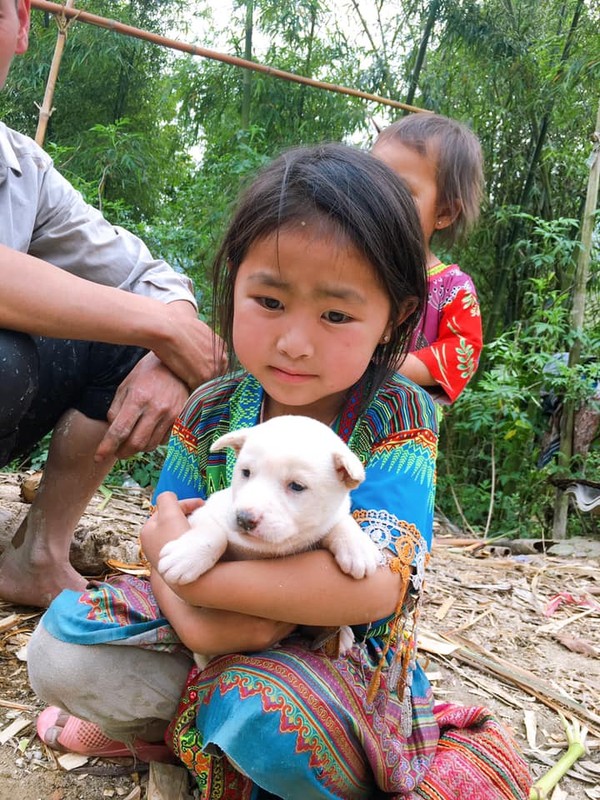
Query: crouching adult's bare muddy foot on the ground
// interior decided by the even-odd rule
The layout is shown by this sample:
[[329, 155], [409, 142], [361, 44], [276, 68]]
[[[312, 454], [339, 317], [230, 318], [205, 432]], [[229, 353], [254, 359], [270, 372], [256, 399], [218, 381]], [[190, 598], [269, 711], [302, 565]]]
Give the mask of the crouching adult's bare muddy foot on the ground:
[[0, 556], [0, 599], [19, 606], [46, 608], [63, 589], [82, 591], [87, 581], [71, 564], [38, 558], [9, 544]]

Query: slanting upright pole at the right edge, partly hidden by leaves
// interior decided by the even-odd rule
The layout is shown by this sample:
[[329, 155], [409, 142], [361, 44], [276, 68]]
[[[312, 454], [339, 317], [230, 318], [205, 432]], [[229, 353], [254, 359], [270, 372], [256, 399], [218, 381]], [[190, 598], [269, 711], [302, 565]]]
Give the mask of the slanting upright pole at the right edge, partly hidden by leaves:
[[[581, 247], [575, 268], [573, 285], [573, 307], [571, 309], [571, 328], [574, 333], [573, 344], [569, 351], [569, 367], [575, 367], [581, 359], [581, 334], [585, 321], [586, 291], [590, 275], [592, 252], [592, 235], [594, 232], [596, 206], [598, 203], [598, 186], [600, 184], [600, 103], [596, 117], [596, 128], [592, 134], [592, 154], [588, 161], [590, 174], [588, 178], [585, 209], [581, 224]], [[573, 456], [575, 403], [565, 400], [560, 430], [559, 464], [568, 469]], [[554, 520], [552, 538], [564, 539], [567, 535], [567, 512], [569, 496], [559, 487], [556, 488], [554, 501]]]

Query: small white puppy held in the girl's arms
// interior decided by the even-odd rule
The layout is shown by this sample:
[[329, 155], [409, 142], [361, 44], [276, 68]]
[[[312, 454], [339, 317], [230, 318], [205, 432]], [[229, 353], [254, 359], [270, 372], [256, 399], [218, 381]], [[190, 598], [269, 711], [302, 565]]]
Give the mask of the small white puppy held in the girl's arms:
[[[190, 515], [191, 530], [164, 545], [158, 571], [167, 582], [190, 583], [223, 555], [273, 558], [317, 545], [354, 578], [375, 571], [379, 550], [350, 514], [350, 490], [364, 469], [331, 428], [309, 417], [274, 417], [227, 433], [210, 449], [226, 447], [237, 454], [231, 486]], [[343, 638], [348, 649], [348, 632]]]

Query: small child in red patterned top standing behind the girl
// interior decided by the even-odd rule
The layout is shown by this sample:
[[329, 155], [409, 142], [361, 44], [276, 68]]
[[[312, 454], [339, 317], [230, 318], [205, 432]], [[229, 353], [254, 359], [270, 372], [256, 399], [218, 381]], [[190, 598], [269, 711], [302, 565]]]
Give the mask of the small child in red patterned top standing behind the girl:
[[402, 375], [441, 403], [452, 403], [477, 370], [483, 346], [475, 286], [431, 251], [434, 236], [454, 242], [479, 216], [483, 158], [477, 137], [439, 114], [411, 114], [384, 128], [373, 155], [408, 185], [427, 248], [428, 298]]

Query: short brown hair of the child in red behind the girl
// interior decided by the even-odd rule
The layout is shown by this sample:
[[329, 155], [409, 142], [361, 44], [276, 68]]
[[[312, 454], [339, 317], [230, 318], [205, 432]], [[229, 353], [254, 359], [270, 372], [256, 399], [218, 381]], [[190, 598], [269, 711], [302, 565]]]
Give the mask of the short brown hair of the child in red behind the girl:
[[409, 114], [379, 134], [380, 142], [396, 141], [435, 158], [438, 207], [457, 208], [454, 222], [437, 236], [449, 244], [475, 225], [483, 197], [483, 153], [477, 136], [462, 123], [442, 114]]

